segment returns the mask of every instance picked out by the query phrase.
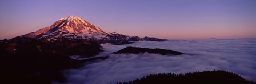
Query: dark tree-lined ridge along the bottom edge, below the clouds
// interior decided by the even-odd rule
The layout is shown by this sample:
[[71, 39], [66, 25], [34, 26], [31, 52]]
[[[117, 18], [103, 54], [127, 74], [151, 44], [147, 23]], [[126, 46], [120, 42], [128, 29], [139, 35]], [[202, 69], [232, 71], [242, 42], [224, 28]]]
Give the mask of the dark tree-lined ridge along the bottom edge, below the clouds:
[[239, 76], [238, 74], [227, 72], [227, 71], [203, 71], [203, 72], [193, 72], [186, 74], [173, 74], [173, 73], [159, 73], [150, 74], [146, 77], [136, 79], [129, 82], [117, 82], [116, 84], [188, 84], [188, 83], [207, 83], [207, 84], [255, 84], [254, 82], [249, 82]]

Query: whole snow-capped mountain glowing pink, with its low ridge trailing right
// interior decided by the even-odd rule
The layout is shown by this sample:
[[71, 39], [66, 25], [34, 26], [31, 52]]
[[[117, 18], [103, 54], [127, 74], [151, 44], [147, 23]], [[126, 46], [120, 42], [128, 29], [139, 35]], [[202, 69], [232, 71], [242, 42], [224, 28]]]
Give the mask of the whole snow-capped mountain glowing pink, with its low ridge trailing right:
[[31, 32], [24, 37], [35, 38], [43, 41], [55, 41], [57, 39], [83, 39], [95, 43], [129, 44], [130, 41], [165, 41], [157, 38], [139, 38], [138, 36], [127, 36], [116, 32], [110, 33], [83, 20], [80, 17], [69, 16], [61, 18], [53, 25]]

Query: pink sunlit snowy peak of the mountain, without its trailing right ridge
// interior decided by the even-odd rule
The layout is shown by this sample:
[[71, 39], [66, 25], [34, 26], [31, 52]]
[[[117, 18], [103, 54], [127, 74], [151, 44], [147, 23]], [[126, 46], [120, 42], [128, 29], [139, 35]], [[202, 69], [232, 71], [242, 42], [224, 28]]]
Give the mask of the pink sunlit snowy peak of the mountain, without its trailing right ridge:
[[39, 35], [61, 35], [62, 32], [75, 34], [81, 38], [85, 38], [86, 36], [92, 36], [94, 34], [107, 34], [104, 31], [102, 31], [99, 27], [95, 27], [93, 24], [83, 20], [80, 17], [69, 16], [61, 18], [60, 20], [56, 21], [53, 25], [49, 27], [45, 27], [36, 32], [26, 34], [25, 36], [29, 38], [35, 38]]

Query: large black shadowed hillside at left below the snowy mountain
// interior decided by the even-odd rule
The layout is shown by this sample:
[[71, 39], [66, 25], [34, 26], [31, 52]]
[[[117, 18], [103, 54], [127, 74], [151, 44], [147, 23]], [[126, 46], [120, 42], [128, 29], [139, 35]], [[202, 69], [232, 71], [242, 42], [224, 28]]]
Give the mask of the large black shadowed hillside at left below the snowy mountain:
[[65, 82], [62, 70], [81, 67], [86, 60], [71, 59], [69, 55], [91, 57], [103, 50], [100, 45], [78, 40], [60, 39], [46, 43], [31, 38], [13, 38], [0, 41], [0, 83]]

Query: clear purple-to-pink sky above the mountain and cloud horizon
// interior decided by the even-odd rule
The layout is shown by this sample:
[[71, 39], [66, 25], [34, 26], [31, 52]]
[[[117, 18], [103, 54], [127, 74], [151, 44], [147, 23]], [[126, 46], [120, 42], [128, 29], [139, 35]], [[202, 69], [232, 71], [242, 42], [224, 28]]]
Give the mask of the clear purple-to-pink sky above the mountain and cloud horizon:
[[163, 39], [256, 38], [255, 0], [1, 0], [0, 39], [75, 15], [108, 32]]

